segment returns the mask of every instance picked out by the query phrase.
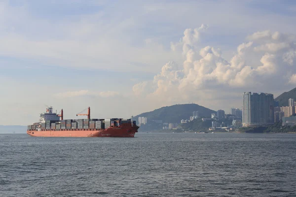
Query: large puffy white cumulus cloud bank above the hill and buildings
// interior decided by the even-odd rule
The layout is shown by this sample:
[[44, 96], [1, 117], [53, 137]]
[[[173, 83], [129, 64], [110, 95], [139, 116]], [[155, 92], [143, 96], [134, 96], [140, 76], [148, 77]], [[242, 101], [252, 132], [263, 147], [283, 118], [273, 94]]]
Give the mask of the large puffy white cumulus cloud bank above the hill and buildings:
[[[240, 44], [227, 61], [221, 49], [199, 46], [200, 32], [206, 29], [205, 25], [186, 29], [180, 42], [171, 43], [173, 51], [182, 48], [179, 55], [184, 62], [178, 66], [171, 61], [162, 66], [151, 79], [154, 91], [148, 98], [205, 101], [221, 99], [225, 93], [227, 98], [237, 91], [238, 94], [250, 89], [268, 92], [286, 84], [296, 84], [295, 35], [271, 31], [253, 33], [247, 37], [249, 42]], [[150, 88], [145, 82], [136, 84], [133, 90], [140, 87], [138, 94], [145, 94], [145, 89]]]

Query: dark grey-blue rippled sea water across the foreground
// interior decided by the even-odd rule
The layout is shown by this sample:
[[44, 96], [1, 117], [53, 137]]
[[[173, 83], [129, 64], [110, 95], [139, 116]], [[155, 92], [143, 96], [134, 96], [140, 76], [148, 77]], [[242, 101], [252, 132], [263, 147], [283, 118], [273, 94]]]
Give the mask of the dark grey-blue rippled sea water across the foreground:
[[2, 197], [296, 196], [296, 135], [0, 135]]

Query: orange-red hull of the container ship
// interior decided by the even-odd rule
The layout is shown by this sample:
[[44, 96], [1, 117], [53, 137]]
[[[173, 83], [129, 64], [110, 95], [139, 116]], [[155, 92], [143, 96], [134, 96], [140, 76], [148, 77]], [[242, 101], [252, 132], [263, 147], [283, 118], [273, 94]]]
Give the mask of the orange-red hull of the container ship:
[[27, 133], [34, 137], [134, 137], [138, 126], [111, 127], [104, 130], [98, 129], [69, 129], [69, 130], [28, 130]]

